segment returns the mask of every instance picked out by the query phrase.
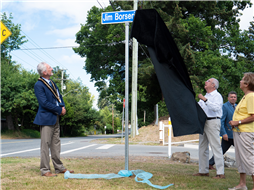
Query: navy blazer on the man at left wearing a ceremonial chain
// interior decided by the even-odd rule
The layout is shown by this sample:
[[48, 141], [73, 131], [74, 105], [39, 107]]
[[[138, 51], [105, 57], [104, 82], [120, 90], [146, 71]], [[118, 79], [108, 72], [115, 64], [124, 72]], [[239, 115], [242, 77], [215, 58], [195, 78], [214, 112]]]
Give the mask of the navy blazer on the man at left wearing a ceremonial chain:
[[[59, 92], [57, 86], [56, 88]], [[56, 97], [48, 89], [48, 87], [42, 81], [39, 80], [34, 85], [34, 92], [39, 102], [39, 109], [33, 123], [37, 125], [55, 125], [57, 115], [60, 115], [62, 113], [62, 108], [56, 105], [57, 102]], [[59, 95], [62, 103], [64, 104], [60, 92]]]

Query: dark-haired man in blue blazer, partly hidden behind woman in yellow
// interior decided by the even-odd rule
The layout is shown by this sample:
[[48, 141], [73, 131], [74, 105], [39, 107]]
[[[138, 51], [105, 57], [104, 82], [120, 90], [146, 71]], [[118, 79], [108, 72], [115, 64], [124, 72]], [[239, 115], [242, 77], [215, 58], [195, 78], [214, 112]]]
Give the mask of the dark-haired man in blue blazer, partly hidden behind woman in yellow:
[[[237, 94], [236, 92], [231, 91], [228, 93], [228, 102], [226, 102], [222, 106], [223, 115], [221, 118], [220, 135], [222, 136], [221, 147], [222, 147], [223, 155], [228, 151], [231, 145], [234, 146], [233, 131], [232, 131], [232, 127], [229, 125], [229, 121], [232, 120], [235, 107], [237, 105], [236, 101], [237, 101]], [[212, 157], [209, 160], [210, 170], [215, 169], [213, 167], [214, 164], [215, 164], [214, 158]]]

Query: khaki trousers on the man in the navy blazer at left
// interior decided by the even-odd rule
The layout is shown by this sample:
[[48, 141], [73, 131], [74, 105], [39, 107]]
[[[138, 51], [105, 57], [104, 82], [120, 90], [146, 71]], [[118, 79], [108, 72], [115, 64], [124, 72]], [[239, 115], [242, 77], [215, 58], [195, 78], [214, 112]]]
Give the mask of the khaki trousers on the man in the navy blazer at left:
[[55, 173], [59, 173], [65, 170], [63, 163], [60, 160], [61, 141], [60, 141], [60, 126], [59, 116], [55, 125], [43, 125], [40, 127], [41, 132], [41, 175], [51, 172], [50, 170], [50, 157], [49, 149], [51, 153], [51, 159], [55, 168]]

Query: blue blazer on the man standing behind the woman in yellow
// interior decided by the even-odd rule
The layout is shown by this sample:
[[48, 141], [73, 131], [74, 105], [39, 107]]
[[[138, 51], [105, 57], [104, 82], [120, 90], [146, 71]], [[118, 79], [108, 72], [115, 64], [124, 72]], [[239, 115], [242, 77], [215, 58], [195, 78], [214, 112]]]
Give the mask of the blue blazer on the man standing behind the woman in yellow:
[[[235, 104], [235, 106], [236, 105], [237, 104]], [[229, 125], [228, 122], [232, 120], [235, 110], [229, 102], [226, 102], [225, 104], [223, 104], [222, 110], [223, 110], [223, 115], [221, 118], [220, 135], [223, 136], [227, 134], [229, 139], [233, 139], [232, 127]]]

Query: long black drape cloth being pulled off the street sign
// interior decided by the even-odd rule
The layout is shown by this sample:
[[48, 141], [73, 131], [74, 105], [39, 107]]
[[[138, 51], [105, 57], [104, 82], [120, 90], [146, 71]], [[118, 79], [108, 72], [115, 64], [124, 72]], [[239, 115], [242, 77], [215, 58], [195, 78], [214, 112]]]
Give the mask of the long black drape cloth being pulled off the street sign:
[[174, 136], [203, 134], [206, 114], [195, 100], [186, 66], [158, 12], [154, 9], [137, 10], [131, 37], [148, 46]]

